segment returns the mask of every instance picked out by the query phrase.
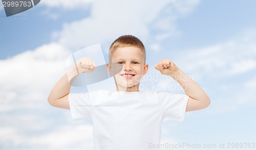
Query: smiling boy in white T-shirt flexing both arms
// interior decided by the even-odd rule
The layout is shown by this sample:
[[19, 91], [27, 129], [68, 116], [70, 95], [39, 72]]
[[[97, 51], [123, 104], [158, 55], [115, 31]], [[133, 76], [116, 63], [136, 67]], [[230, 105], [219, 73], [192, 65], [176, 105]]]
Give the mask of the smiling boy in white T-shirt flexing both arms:
[[155, 69], [175, 79], [185, 94], [140, 92], [140, 80], [148, 64], [144, 45], [134, 36], [117, 38], [110, 46], [109, 55], [110, 63], [106, 67], [114, 76], [115, 92], [69, 93], [70, 82], [79, 73], [90, 73], [95, 68], [90, 58], [82, 58], [48, 97], [52, 106], [70, 109], [72, 118], [92, 119], [95, 149], [152, 149], [149, 144], [160, 144], [164, 118], [182, 121], [185, 111], [203, 109], [210, 104], [203, 89], [168, 59], [160, 61]]

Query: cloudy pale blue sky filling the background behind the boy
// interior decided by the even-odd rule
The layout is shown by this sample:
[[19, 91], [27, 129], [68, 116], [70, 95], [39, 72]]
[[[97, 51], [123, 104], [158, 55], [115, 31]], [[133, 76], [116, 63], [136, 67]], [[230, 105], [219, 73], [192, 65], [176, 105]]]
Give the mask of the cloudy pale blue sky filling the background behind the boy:
[[144, 84], [183, 93], [178, 86], [169, 89], [177, 83], [153, 69], [171, 59], [211, 98], [207, 109], [188, 112], [183, 122], [164, 120], [161, 143], [255, 143], [255, 5], [45, 0], [11, 17], [0, 5], [0, 149], [93, 149], [92, 123], [72, 120], [47, 96], [69, 55], [100, 43], [107, 59], [109, 45], [123, 34], [144, 42], [147, 76], [159, 77]]

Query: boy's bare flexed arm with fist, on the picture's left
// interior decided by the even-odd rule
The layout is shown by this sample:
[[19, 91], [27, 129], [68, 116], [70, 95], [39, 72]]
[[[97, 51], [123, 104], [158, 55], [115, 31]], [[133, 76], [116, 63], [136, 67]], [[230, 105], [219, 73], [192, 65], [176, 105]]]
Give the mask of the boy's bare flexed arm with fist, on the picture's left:
[[70, 70], [58, 81], [48, 96], [50, 105], [63, 109], [70, 109], [68, 94], [72, 82], [79, 73], [90, 73], [94, 71], [95, 63], [88, 57], [81, 58], [70, 68]]

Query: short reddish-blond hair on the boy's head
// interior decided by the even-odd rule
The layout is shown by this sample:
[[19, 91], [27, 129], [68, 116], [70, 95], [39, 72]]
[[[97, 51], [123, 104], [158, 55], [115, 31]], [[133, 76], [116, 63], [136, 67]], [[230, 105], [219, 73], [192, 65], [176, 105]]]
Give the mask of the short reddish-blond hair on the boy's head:
[[127, 47], [127, 46], [135, 46], [141, 49], [141, 53], [144, 57], [144, 64], [146, 62], [146, 51], [145, 46], [141, 42], [140, 39], [138, 39], [135, 36], [132, 35], [123, 35], [117, 38], [111, 45], [110, 45], [110, 51], [109, 51], [109, 59], [110, 62], [112, 61], [112, 55], [115, 52], [115, 50], [119, 47]]

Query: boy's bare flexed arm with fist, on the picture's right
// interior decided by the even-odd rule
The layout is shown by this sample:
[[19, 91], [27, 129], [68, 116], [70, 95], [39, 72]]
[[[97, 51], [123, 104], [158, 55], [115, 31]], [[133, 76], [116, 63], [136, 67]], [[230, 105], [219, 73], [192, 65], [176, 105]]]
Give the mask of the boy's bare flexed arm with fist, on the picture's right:
[[162, 74], [172, 77], [184, 89], [186, 95], [189, 96], [186, 111], [199, 110], [209, 106], [210, 99], [204, 90], [172, 61], [164, 59], [155, 65], [155, 68]]

